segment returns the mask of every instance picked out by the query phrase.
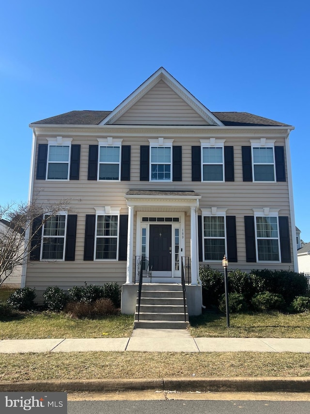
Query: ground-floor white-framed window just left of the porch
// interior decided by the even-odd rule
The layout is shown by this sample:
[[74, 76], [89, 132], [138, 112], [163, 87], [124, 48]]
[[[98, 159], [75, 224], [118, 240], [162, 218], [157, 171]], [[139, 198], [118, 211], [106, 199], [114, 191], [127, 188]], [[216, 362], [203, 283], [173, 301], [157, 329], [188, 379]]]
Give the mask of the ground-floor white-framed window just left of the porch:
[[94, 260], [117, 260], [120, 208], [96, 210]]

